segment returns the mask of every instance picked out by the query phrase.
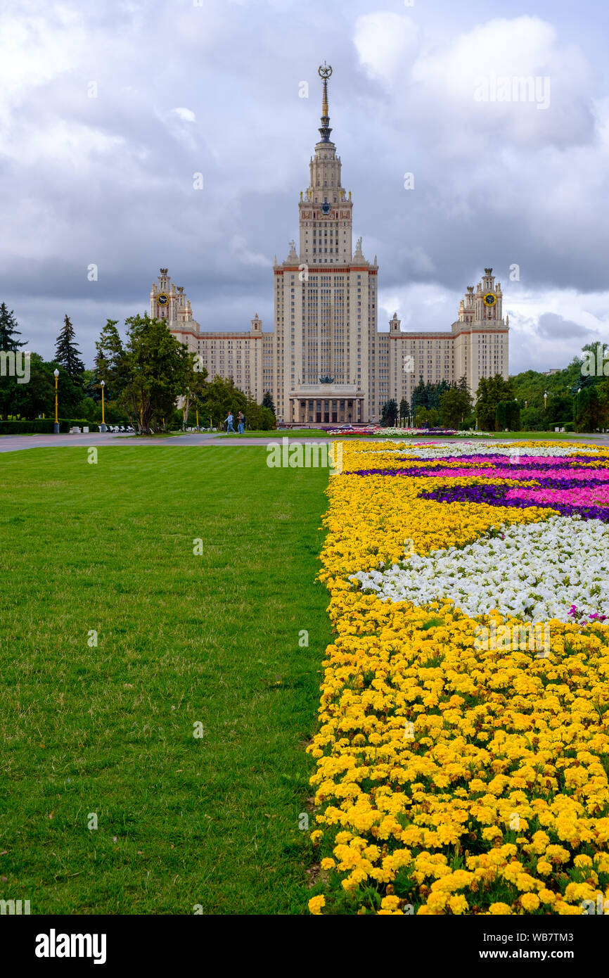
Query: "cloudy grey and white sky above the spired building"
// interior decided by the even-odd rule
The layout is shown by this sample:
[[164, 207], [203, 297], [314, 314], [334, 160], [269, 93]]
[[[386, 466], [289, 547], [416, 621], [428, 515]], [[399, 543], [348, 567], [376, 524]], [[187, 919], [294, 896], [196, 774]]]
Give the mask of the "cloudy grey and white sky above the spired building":
[[608, 33], [602, 0], [3, 0], [0, 300], [89, 365], [160, 266], [204, 330], [270, 329], [326, 61], [380, 327], [449, 329], [491, 265], [510, 372], [563, 366], [609, 339]]

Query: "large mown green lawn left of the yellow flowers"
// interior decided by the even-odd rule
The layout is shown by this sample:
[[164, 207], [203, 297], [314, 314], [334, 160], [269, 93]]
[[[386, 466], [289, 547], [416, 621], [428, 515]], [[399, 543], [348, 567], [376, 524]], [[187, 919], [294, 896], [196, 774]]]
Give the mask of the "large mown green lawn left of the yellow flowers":
[[0, 455], [1, 899], [306, 910], [325, 485], [262, 446]]

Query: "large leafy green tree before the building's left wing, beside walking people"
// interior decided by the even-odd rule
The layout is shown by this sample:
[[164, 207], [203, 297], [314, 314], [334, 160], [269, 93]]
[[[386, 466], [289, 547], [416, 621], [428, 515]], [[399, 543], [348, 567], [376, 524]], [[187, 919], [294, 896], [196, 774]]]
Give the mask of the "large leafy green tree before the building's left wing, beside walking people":
[[137, 433], [148, 434], [172, 417], [178, 397], [188, 389], [193, 354], [165, 323], [148, 315], [131, 316], [125, 326], [123, 345], [116, 321], [106, 324], [96, 344], [97, 369]]

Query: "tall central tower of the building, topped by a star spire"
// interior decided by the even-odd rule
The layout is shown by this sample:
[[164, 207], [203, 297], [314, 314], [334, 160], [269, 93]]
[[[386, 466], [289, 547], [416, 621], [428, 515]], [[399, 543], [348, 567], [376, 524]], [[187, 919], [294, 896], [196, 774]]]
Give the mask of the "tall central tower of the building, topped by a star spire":
[[[299, 247], [275, 263], [275, 376], [286, 422], [366, 422], [374, 400], [376, 260], [353, 250], [353, 203], [330, 141], [327, 83], [322, 125], [298, 204]], [[372, 378], [371, 388], [369, 378]]]

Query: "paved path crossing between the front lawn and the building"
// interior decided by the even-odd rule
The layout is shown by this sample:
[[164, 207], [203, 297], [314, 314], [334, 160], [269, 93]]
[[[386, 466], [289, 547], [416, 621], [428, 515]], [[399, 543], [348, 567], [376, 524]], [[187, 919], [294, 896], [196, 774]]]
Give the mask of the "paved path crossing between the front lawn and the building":
[[[282, 438], [289, 437], [288, 431], [274, 431], [268, 438], [248, 438], [243, 435], [241, 438], [225, 438], [219, 434], [212, 434], [206, 432], [192, 432], [184, 435], [177, 435], [173, 438], [136, 438], [133, 435], [125, 434], [30, 434], [30, 435], [0, 435], [0, 452], [19, 452], [25, 448], [65, 448], [66, 446], [73, 448], [74, 446], [88, 447], [90, 445], [188, 445], [188, 446], [222, 446], [224, 448], [231, 448], [234, 446], [242, 445], [258, 445], [259, 447], [264, 447], [269, 444], [269, 442], [281, 441]], [[326, 438], [320, 442], [321, 444], [328, 444], [332, 439]], [[379, 438], [362, 438], [361, 441], [370, 441], [378, 443]], [[399, 438], [394, 439], [399, 441]], [[413, 440], [413, 445], [420, 442], [424, 442], [423, 436]], [[481, 438], [480, 443], [488, 443], [489, 439]], [[506, 436], [502, 439], [506, 442], [514, 441], [513, 438]], [[562, 444], [564, 439], [556, 440], [556, 444]], [[569, 439], [571, 440], [571, 439]], [[573, 441], [586, 441], [590, 445], [609, 445], [609, 434], [596, 434], [596, 435], [573, 435]], [[315, 434], [311, 433], [311, 438], [299, 437], [293, 438], [293, 442], [303, 442], [316, 441]], [[390, 439], [387, 439], [390, 441]], [[553, 439], [552, 439], [553, 441]], [[449, 443], [455, 444], [455, 439], [446, 438], [434, 438], [433, 442], [436, 443]], [[526, 440], [522, 439], [520, 444], [526, 444]]]

